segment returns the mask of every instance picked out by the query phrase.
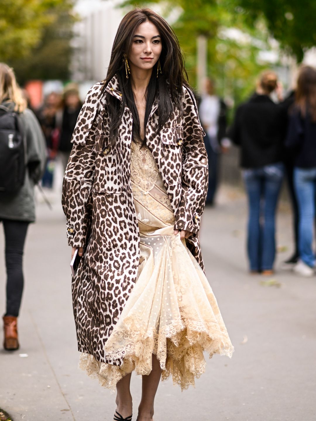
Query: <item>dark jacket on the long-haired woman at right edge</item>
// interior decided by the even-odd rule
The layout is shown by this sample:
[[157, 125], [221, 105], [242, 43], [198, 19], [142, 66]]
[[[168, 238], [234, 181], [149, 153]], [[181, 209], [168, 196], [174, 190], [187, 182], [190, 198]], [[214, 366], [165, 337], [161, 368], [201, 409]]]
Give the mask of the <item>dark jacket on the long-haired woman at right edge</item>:
[[295, 167], [316, 167], [316, 123], [308, 114], [302, 117], [297, 108], [289, 115], [285, 146], [292, 151]]

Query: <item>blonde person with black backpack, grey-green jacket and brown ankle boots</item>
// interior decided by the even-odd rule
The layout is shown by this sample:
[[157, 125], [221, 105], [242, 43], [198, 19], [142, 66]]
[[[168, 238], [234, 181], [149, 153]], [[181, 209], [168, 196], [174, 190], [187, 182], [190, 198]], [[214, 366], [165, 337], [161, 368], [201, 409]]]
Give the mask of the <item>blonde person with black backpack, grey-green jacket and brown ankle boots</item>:
[[4, 348], [19, 348], [17, 318], [23, 292], [22, 256], [27, 228], [35, 221], [34, 187], [45, 168], [46, 142], [37, 118], [16, 84], [13, 69], [0, 63], [0, 222], [7, 272]]

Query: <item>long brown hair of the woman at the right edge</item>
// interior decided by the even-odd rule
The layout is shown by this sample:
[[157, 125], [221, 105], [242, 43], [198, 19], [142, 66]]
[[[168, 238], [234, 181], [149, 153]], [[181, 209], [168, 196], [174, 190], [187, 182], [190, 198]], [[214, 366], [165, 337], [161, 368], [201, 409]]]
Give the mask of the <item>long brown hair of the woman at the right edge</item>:
[[303, 66], [297, 78], [295, 105], [303, 117], [308, 114], [316, 122], [316, 69]]

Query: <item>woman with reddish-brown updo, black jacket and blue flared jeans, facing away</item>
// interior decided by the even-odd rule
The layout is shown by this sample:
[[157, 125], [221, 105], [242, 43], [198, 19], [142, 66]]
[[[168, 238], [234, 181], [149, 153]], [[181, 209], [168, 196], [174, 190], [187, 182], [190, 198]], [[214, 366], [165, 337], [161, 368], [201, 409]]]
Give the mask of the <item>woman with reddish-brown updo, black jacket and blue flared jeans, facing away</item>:
[[275, 214], [284, 173], [281, 109], [270, 98], [277, 87], [276, 74], [264, 72], [256, 93], [238, 107], [229, 135], [241, 147], [241, 167], [249, 203], [250, 272], [263, 275], [273, 273]]

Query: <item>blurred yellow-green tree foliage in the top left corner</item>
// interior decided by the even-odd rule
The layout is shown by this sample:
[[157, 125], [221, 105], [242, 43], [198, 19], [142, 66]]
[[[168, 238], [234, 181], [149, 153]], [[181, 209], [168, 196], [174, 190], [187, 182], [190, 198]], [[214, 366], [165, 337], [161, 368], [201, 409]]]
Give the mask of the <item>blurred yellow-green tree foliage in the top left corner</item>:
[[1, 0], [0, 60], [29, 79], [69, 77], [73, 0]]

